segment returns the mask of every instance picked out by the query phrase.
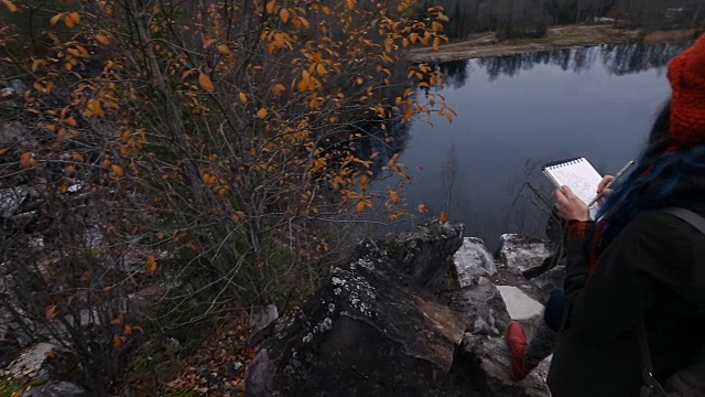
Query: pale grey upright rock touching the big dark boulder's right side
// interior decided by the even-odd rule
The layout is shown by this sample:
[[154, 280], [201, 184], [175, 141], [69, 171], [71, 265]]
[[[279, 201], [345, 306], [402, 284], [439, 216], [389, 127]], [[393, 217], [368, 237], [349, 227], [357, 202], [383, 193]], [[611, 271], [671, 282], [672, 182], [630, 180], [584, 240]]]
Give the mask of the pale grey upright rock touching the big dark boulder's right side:
[[485, 247], [485, 242], [476, 237], [465, 237], [463, 245], [453, 256], [460, 287], [473, 285], [477, 276], [492, 276], [497, 272], [495, 258]]

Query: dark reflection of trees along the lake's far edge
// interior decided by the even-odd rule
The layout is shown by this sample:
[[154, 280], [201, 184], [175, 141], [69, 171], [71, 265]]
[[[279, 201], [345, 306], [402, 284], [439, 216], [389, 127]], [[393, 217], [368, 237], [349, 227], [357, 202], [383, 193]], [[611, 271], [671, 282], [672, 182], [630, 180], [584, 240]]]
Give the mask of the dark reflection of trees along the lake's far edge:
[[[554, 65], [574, 73], [586, 72], [598, 60], [609, 74], [621, 76], [665, 67], [671, 58], [688, 45], [690, 43], [628, 43], [494, 56], [479, 58], [476, 62], [479, 67], [487, 71], [490, 82], [499, 76], [516, 76], [520, 71], [530, 71], [535, 65]], [[462, 67], [463, 62], [465, 62], [465, 68]], [[451, 65], [446, 66], [446, 64]], [[467, 61], [455, 61], [437, 66], [446, 73], [446, 82], [459, 88], [467, 81], [468, 65]]]

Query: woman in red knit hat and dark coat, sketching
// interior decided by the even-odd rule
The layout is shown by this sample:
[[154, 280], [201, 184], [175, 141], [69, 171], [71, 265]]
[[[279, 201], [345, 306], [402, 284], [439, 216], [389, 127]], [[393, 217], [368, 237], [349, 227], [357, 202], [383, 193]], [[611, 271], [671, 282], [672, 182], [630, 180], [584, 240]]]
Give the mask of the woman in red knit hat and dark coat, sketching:
[[705, 348], [705, 234], [659, 211], [705, 216], [705, 36], [668, 75], [671, 104], [598, 223], [568, 187], [556, 190], [570, 238], [566, 308], [547, 379], [555, 397], [639, 396], [642, 321], [662, 383]]

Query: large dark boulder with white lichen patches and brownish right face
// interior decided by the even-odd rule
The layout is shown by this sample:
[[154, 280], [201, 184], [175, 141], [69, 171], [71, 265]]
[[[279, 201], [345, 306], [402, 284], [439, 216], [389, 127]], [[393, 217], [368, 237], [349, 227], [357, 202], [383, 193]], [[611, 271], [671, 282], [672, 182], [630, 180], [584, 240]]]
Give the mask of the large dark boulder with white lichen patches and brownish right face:
[[[387, 254], [405, 254], [397, 260], [376, 243], [362, 242], [297, 314], [278, 320], [274, 336], [247, 369], [246, 396], [434, 395], [451, 369], [464, 324], [412, 278], [435, 277], [426, 261], [449, 257], [455, 244], [449, 240], [459, 246], [460, 239], [457, 228], [415, 232], [386, 247]], [[411, 237], [421, 235], [424, 242]], [[433, 247], [448, 250], [434, 254]]]

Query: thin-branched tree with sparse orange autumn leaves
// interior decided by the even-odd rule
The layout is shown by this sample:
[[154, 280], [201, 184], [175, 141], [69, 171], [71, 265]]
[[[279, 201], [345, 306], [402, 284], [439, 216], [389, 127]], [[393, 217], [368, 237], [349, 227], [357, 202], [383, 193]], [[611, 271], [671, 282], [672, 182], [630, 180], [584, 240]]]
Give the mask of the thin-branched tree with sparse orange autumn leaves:
[[442, 8], [412, 3], [2, 0], [0, 72], [28, 85], [3, 119], [28, 133], [0, 184], [33, 203], [3, 224], [6, 309], [105, 389], [144, 333], [305, 293], [356, 214], [402, 214], [355, 143], [453, 117], [414, 96], [434, 68], [400, 67], [445, 41]]

